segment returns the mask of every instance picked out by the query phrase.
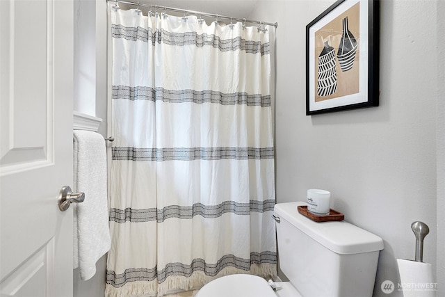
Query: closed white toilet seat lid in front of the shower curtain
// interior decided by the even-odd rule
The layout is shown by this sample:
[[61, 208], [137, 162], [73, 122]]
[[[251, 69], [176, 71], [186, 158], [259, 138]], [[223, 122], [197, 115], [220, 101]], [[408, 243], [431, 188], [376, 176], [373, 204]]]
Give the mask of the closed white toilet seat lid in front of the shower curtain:
[[223, 276], [205, 284], [196, 297], [277, 297], [264, 278], [249, 274]]

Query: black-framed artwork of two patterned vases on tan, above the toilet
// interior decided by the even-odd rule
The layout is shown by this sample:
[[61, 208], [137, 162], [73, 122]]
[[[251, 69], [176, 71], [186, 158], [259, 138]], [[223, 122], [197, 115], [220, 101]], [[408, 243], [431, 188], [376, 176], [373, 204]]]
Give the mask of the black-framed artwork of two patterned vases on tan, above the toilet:
[[306, 26], [306, 115], [378, 106], [379, 1], [339, 0]]

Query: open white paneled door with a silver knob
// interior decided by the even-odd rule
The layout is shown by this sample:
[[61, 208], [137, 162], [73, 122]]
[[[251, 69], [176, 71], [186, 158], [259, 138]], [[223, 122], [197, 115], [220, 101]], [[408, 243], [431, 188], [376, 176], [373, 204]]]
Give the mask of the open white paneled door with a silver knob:
[[72, 296], [72, 0], [1, 0], [0, 30], [0, 296]]

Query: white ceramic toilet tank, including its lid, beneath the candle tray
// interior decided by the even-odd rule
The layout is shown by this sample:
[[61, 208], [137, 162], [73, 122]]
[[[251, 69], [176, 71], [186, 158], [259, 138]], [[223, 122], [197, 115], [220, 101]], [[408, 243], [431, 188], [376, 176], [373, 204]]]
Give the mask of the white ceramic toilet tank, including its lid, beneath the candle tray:
[[280, 268], [304, 297], [372, 296], [379, 236], [346, 221], [316, 223], [298, 213], [305, 202], [275, 204]]

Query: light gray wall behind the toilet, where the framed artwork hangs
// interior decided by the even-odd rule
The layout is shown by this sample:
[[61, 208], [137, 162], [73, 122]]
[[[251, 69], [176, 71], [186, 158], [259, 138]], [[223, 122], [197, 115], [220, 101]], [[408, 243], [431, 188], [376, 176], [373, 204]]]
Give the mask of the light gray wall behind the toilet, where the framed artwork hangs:
[[[444, 227], [444, 202], [437, 203], [443, 201], [444, 191], [438, 196], [437, 186], [443, 188], [444, 182], [437, 183], [436, 170], [437, 139], [442, 141], [442, 151], [444, 147], [444, 137], [436, 136], [436, 119], [444, 120], [443, 103], [439, 103], [444, 89], [437, 78], [443, 63], [442, 70], [436, 65], [437, 31], [444, 33], [437, 19], [444, 9], [442, 5], [437, 10], [437, 1], [380, 1], [380, 106], [307, 116], [305, 27], [332, 3], [259, 1], [251, 16], [279, 23], [275, 31], [277, 202], [304, 201], [307, 188], [330, 190], [332, 208], [385, 241], [374, 296], [387, 296], [380, 284], [400, 282], [396, 258], [414, 259], [410, 229], [414, 220], [430, 226], [423, 260], [434, 268], [436, 263], [444, 264], [443, 231], [437, 240], [437, 223], [442, 221]], [[442, 54], [443, 45], [442, 40]], [[440, 117], [437, 104], [442, 104]], [[443, 131], [438, 121], [441, 125]], [[442, 157], [442, 170], [443, 161]], [[443, 267], [439, 269], [439, 286], [443, 286]], [[401, 293], [396, 290], [391, 296]]]

